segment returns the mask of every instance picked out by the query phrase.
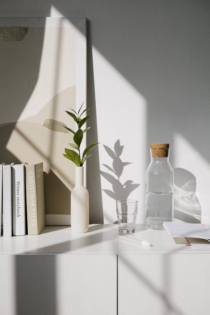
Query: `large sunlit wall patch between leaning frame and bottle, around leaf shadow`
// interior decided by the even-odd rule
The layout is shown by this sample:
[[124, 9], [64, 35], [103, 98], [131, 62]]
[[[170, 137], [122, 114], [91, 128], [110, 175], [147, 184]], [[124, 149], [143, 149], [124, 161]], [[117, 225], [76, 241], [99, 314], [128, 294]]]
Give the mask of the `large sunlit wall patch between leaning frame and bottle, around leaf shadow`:
[[[120, 158], [122, 162], [128, 162], [123, 166], [118, 185], [115, 185], [114, 180], [113, 182], [107, 180], [107, 178], [111, 178], [110, 176], [107, 178], [101, 176], [104, 223], [113, 223], [117, 219], [116, 201], [110, 196], [123, 195], [123, 184], [131, 183], [131, 181], [136, 185], [135, 189], [131, 189], [129, 195], [125, 192], [124, 198], [139, 201], [137, 222], [144, 223], [147, 149], [146, 100], [94, 47], [93, 68], [98, 140], [101, 143], [99, 145], [100, 170], [102, 174], [106, 172], [108, 175], [114, 176], [113, 172], [103, 164], [112, 168], [112, 164], [116, 162], [117, 158]], [[116, 154], [114, 146], [118, 143], [118, 139], [119, 146], [124, 146], [124, 148], [120, 157], [113, 160], [111, 154], [107, 154], [107, 147]], [[104, 192], [105, 190], [110, 192], [110, 196]]]

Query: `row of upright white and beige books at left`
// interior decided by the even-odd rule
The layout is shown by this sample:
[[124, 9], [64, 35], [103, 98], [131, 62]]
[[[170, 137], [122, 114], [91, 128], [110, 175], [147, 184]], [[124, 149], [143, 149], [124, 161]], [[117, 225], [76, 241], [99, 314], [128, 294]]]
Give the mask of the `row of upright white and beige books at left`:
[[[3, 236], [38, 235], [45, 227], [43, 163], [0, 165]], [[27, 223], [27, 224], [26, 224]]]

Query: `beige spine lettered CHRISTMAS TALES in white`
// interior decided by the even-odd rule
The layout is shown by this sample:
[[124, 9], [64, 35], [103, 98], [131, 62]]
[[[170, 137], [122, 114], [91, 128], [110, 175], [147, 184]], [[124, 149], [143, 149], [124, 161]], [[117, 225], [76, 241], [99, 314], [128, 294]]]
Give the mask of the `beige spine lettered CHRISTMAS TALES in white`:
[[35, 165], [26, 165], [26, 206], [28, 235], [38, 234]]

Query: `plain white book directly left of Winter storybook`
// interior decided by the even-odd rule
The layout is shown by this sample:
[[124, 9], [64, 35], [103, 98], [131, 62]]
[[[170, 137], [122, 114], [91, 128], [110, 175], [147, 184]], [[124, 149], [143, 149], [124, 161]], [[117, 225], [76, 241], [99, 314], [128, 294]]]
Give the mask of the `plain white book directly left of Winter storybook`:
[[3, 165], [3, 236], [12, 236], [12, 167]]

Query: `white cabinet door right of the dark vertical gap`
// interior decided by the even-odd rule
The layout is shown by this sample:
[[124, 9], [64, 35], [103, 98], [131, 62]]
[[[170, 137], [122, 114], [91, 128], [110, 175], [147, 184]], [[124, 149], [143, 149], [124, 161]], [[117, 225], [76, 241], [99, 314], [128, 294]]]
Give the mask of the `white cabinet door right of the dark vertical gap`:
[[206, 315], [210, 255], [119, 255], [118, 315]]

